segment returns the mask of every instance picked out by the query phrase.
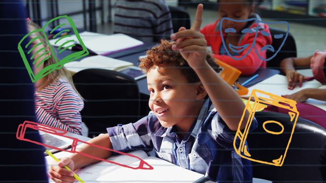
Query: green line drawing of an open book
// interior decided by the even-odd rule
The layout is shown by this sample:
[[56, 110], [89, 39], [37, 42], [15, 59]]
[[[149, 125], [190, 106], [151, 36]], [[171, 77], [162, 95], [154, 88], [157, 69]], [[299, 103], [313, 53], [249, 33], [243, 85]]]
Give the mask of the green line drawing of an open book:
[[[50, 43], [49, 43], [49, 40], [47, 39], [47, 36], [46, 36], [46, 33], [44, 31], [44, 29], [53, 21], [56, 21], [56, 20], [62, 20], [62, 22], [67, 22], [67, 23], [61, 23], [59, 24], [58, 26], [56, 26], [55, 28], [53, 28], [50, 32], [50, 34], [52, 34], [53, 32], [56, 32], [56, 30], [58, 30], [59, 28], [61, 27], [65, 27], [65, 28], [62, 28], [62, 31], [58, 32], [55, 36], [53, 36], [53, 39], [55, 38], [58, 38], [60, 37], [60, 35], [64, 35], [63, 33], [67, 33], [65, 36], [62, 36], [60, 37], [56, 42], [55, 42], [55, 46], [58, 46], [58, 47], [54, 47], [52, 48], [50, 46]], [[66, 28], [68, 26], [68, 28]], [[31, 38], [31, 39], [27, 39], [28, 37], [30, 37], [31, 35], [33, 35], [34, 33], [36, 32], [40, 32], [40, 34], [42, 34], [45, 38], [45, 41], [46, 41], [46, 45], [49, 45], [49, 50], [47, 51], [44, 48], [40, 48], [40, 45], [43, 45], [42, 44], [42, 41], [37, 44], [37, 45], [32, 45], [32, 43], [36, 40], [42, 40], [41, 39], [41, 36], [36, 36], [34, 38]], [[72, 34], [69, 35], [70, 32], [73, 32]], [[72, 38], [71, 35], [75, 35], [74, 38]], [[69, 39], [69, 37], [71, 37], [71, 39]], [[65, 42], [60, 42], [60, 40], [62, 39], [65, 39], [67, 41]], [[76, 52], [73, 52], [71, 54], [68, 54], [66, 55], [64, 58], [62, 58], [61, 60], [59, 60], [56, 56], [56, 53], [58, 52], [58, 54], [63, 54], [63, 51], [68, 49], [68, 48], [71, 48], [73, 46], [75, 46], [75, 44], [79, 44], [80, 46], [82, 46], [82, 50], [79, 50], [79, 51], [76, 51]], [[30, 46], [30, 47], [29, 47]], [[24, 51], [25, 48], [31, 48], [30, 50], [28, 50], [27, 52]], [[39, 51], [44, 51], [43, 54], [41, 54], [40, 56], [36, 57], [35, 55], [37, 54], [36, 52], [33, 52], [34, 49], [36, 49], [36, 47], [40, 48], [38, 51], [36, 52], [39, 52]], [[54, 50], [56, 48], [56, 50]], [[35, 82], [41, 78], [43, 78], [44, 76], [48, 75], [49, 73], [51, 73], [53, 70], [56, 70], [56, 69], [61, 69], [64, 64], [68, 63], [68, 62], [71, 62], [73, 60], [76, 60], [80, 57], [83, 57], [83, 56], [86, 56], [89, 54], [85, 44], [83, 43], [82, 39], [80, 38], [78, 32], [77, 32], [77, 29], [76, 29], [76, 26], [75, 24], [73, 23], [73, 20], [68, 17], [67, 15], [63, 15], [63, 16], [59, 16], [59, 17], [56, 17], [56, 18], [53, 18], [51, 20], [49, 20], [48, 22], [46, 22], [46, 24], [40, 28], [40, 29], [37, 29], [33, 32], [30, 32], [29, 34], [26, 34], [18, 43], [18, 51], [20, 53], [20, 56], [22, 57], [23, 59], [23, 62], [24, 62], [24, 65], [32, 79], [32, 82]], [[44, 56], [44, 55], [48, 55], [48, 56]], [[44, 63], [47, 59], [49, 59], [50, 57], [53, 58], [53, 60], [55, 60], [55, 64], [50, 64], [50, 65], [47, 65], [46, 67], [42, 68], [36, 75], [33, 73], [33, 67], [35, 66], [35, 68], [38, 68], [40, 67], [40, 65], [42, 63]], [[43, 58], [43, 59], [42, 59]], [[30, 65], [29, 63], [29, 59], [33, 60], [33, 64]], [[39, 59], [42, 59], [42, 60], [39, 60]]]

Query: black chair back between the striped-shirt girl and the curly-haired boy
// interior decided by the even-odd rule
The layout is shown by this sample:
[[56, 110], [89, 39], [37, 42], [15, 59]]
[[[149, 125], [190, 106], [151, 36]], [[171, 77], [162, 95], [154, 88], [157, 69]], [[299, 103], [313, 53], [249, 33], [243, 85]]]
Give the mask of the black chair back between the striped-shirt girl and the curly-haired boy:
[[86, 69], [72, 76], [84, 98], [82, 120], [89, 137], [107, 133], [107, 127], [134, 123], [139, 119], [140, 100], [137, 82], [122, 73], [105, 69]]

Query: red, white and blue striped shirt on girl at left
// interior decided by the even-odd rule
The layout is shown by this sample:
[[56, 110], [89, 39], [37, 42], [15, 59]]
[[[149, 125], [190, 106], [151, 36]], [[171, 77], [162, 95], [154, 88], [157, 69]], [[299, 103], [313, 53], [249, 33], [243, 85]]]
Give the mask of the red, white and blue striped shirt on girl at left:
[[39, 123], [82, 134], [84, 102], [68, 81], [58, 79], [36, 91], [35, 107]]

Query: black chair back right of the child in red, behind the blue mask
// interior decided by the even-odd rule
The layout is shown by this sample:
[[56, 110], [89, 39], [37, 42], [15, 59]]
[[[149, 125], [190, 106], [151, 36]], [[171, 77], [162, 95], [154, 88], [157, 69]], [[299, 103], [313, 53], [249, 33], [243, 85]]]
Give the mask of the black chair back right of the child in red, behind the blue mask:
[[[269, 31], [272, 37], [272, 43], [271, 45], [277, 49], [281, 46], [283, 39], [275, 39], [274, 35], [277, 34], [283, 34], [285, 35], [286, 32], [282, 31], [281, 29], [278, 28], [271, 28], [269, 27]], [[274, 55], [274, 52], [271, 52], [269, 50], [267, 50], [266, 52], [266, 57], [269, 58], [272, 55]], [[289, 57], [296, 57], [296, 45], [295, 45], [295, 40], [293, 38], [293, 36], [291, 35], [291, 33], [289, 33], [283, 47], [281, 48], [280, 52], [273, 58], [270, 59], [269, 61], [267, 61], [267, 68], [270, 69], [278, 69], [280, 70], [280, 64], [281, 61], [284, 58], [289, 58]]]

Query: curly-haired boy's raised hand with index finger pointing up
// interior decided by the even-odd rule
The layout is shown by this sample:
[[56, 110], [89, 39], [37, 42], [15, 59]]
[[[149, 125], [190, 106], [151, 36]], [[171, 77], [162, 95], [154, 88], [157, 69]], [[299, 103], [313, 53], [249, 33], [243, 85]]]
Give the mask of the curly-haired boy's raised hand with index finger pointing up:
[[199, 32], [202, 16], [203, 5], [199, 4], [191, 29], [187, 30], [180, 27], [178, 33], [171, 35], [171, 39], [176, 40], [176, 44], [172, 46], [172, 49], [178, 50], [192, 68], [202, 67], [207, 54], [205, 37]]

